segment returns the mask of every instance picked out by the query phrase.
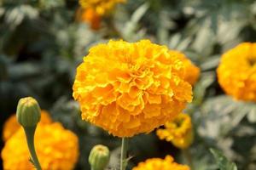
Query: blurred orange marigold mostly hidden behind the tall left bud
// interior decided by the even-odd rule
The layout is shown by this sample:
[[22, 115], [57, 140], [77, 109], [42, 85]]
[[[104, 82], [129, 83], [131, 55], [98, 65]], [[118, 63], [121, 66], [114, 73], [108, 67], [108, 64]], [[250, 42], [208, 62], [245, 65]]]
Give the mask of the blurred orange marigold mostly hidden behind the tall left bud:
[[[49, 124], [52, 120], [47, 111], [41, 111], [41, 120], [39, 123]], [[3, 124], [3, 141], [7, 141], [20, 128], [20, 123], [17, 122], [16, 115], [12, 115]]]

